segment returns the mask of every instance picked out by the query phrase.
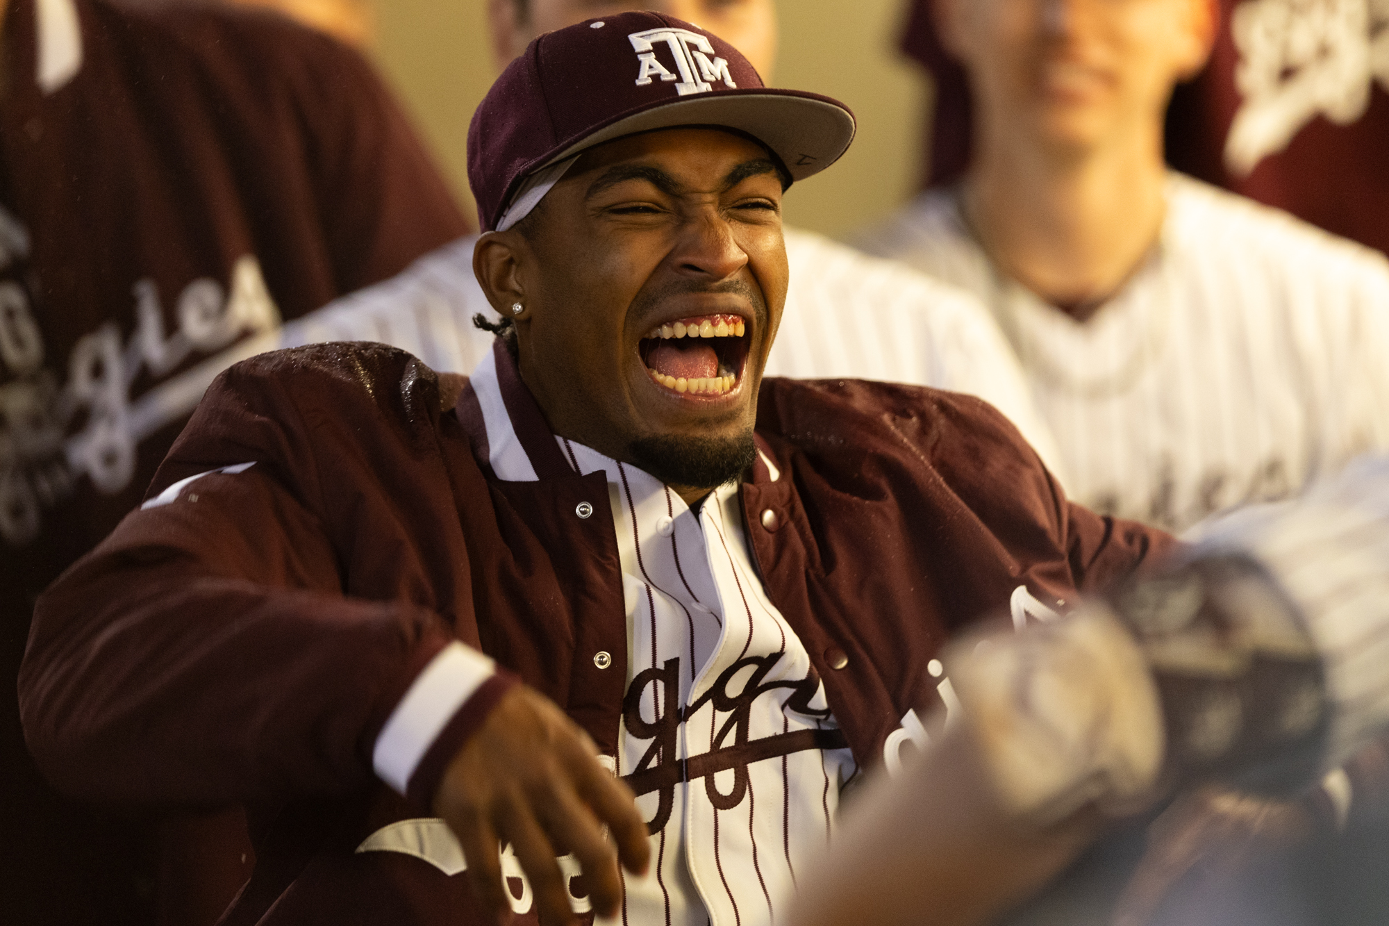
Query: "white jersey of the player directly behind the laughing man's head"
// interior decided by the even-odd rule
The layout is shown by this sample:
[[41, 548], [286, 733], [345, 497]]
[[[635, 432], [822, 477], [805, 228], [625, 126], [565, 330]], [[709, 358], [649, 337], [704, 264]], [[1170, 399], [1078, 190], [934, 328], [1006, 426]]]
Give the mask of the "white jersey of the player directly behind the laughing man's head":
[[[381, 341], [435, 370], [469, 373], [492, 350], [472, 325], [496, 320], [460, 238], [397, 277], [285, 325], [281, 346]], [[1064, 481], [1060, 453], [989, 313], [965, 292], [820, 235], [786, 229], [790, 288], [767, 375], [854, 377], [978, 395], [1003, 412]]]

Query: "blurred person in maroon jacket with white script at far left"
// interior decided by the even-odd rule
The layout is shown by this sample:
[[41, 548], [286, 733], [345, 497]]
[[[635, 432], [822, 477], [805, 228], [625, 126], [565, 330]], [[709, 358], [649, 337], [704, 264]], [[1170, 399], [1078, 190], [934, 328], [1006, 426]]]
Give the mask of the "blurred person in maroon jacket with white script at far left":
[[[211, 371], [468, 224], [371, 68], [324, 35], [201, 4], [0, 0], [0, 17], [13, 685], [33, 598], [139, 502]], [[0, 736], [0, 922], [154, 919], [151, 826], [43, 786], [13, 695]], [[185, 845], [175, 868], [196, 862]], [[196, 907], [165, 893], [165, 922]]]

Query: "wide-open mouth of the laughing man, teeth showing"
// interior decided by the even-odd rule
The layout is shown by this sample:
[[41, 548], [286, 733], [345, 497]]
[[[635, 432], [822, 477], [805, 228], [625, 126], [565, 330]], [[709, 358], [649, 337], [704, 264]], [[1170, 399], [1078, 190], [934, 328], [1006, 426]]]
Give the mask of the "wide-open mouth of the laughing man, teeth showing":
[[733, 392], [747, 360], [747, 323], [740, 316], [692, 316], [653, 328], [642, 338], [642, 363], [651, 381], [681, 395]]

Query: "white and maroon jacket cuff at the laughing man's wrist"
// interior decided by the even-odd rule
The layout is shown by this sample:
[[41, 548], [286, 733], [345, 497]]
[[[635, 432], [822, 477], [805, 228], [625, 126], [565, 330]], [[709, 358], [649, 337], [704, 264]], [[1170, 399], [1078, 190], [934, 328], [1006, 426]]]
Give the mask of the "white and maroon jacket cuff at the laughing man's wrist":
[[[515, 677], [460, 642], [439, 651], [392, 710], [372, 748], [376, 774], [400, 794], [424, 795]], [[438, 754], [438, 755], [436, 755]]]

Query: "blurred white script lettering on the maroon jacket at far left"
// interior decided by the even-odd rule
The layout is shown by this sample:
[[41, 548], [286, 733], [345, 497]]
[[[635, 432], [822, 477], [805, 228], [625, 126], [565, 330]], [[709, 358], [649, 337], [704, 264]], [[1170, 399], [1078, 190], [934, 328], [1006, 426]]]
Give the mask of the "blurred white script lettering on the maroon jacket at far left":
[[[8, 271], [0, 279], [0, 541], [11, 546], [39, 535], [43, 509], [68, 496], [78, 478], [106, 495], [125, 489], [139, 442], [192, 412], [228, 366], [278, 346], [279, 330], [279, 309], [250, 254], [232, 267], [231, 292], [210, 277], [189, 282], [168, 334], [158, 289], [140, 279], [133, 331], [122, 339], [108, 321], [83, 335], [60, 385], [60, 371], [43, 366], [42, 330], [18, 273], [26, 254], [28, 232], [0, 213], [0, 267]], [[142, 373], [164, 378], [199, 355], [211, 356], [131, 396]]]

